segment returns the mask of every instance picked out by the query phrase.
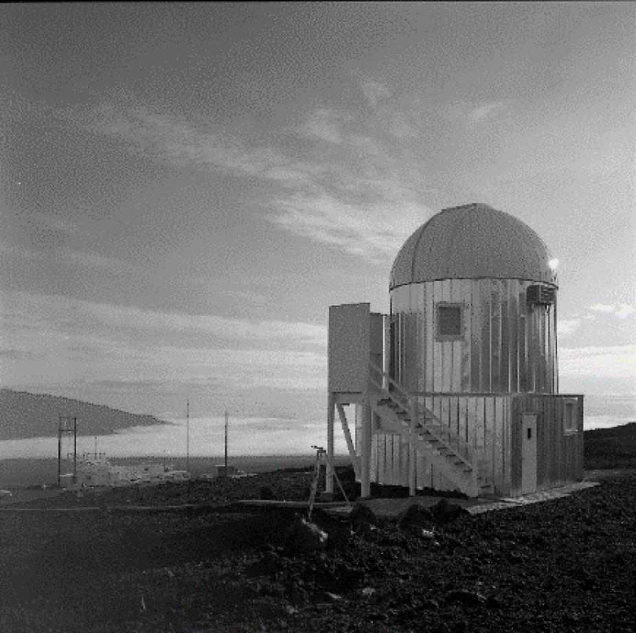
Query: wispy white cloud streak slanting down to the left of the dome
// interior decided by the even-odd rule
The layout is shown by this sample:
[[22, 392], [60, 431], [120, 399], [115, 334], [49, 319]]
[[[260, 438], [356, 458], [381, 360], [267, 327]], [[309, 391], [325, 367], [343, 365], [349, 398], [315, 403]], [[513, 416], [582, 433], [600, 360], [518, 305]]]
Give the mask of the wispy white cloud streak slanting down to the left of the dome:
[[[387, 93], [379, 82], [363, 85], [369, 98]], [[265, 204], [275, 225], [368, 262], [386, 264], [429, 216], [420, 203], [425, 179], [418, 173], [414, 180], [422, 186], [419, 192], [405, 184], [413, 182], [413, 174], [405, 173], [401, 161], [378, 138], [359, 128], [348, 130], [348, 116], [325, 107], [307, 115], [299, 132], [328, 143], [320, 159], [299, 159], [273, 145], [255, 147], [239, 137], [196, 130], [145, 108], [102, 104], [78, 120], [93, 131], [120, 137], [148, 157], [274, 182], [280, 192]]]

